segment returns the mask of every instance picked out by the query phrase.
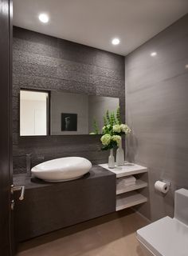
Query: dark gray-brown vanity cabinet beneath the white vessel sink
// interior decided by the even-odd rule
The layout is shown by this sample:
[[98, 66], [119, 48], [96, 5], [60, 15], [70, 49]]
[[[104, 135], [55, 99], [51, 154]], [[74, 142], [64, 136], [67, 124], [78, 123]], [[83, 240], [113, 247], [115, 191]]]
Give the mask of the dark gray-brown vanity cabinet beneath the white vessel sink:
[[21, 175], [14, 184], [25, 185], [23, 201], [15, 194], [18, 242], [116, 211], [116, 174], [100, 166], [74, 181], [31, 182]]

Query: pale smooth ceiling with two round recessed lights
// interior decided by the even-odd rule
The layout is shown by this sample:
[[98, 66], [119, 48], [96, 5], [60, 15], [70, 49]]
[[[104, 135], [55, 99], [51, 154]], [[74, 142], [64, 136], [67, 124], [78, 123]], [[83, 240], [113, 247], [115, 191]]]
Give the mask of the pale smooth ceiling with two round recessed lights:
[[188, 0], [14, 0], [14, 25], [127, 55], [187, 12]]

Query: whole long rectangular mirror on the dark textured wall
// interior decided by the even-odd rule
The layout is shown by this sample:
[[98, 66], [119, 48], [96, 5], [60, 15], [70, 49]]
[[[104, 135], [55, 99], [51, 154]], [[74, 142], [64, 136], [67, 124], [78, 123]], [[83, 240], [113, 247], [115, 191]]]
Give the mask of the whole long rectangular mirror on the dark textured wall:
[[20, 134], [47, 135], [48, 128], [50, 135], [101, 134], [104, 114], [118, 107], [119, 98], [21, 90]]

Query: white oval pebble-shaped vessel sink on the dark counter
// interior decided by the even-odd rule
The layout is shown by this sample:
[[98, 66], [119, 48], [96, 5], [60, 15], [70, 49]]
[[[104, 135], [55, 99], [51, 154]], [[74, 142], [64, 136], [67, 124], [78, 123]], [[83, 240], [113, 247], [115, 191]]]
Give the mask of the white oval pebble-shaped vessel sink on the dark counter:
[[47, 182], [64, 182], [80, 178], [91, 169], [92, 163], [86, 158], [57, 158], [34, 166], [32, 174]]

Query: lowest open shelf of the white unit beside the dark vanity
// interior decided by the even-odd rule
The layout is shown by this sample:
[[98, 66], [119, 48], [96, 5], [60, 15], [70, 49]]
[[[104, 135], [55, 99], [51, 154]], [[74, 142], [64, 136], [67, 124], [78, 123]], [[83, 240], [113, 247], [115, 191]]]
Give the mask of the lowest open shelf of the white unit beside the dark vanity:
[[116, 198], [116, 211], [136, 206], [143, 202], [147, 202], [147, 198], [135, 191], [128, 192], [127, 194], [121, 194]]

